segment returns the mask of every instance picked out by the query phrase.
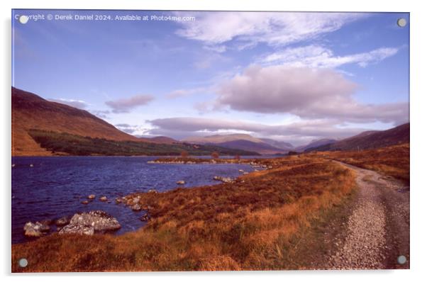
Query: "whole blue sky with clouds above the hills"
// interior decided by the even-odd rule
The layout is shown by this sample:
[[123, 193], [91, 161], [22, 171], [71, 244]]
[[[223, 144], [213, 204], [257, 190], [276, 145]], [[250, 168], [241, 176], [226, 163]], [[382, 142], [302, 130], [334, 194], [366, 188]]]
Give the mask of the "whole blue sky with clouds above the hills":
[[137, 136], [341, 139], [409, 122], [409, 13], [13, 10], [12, 86]]

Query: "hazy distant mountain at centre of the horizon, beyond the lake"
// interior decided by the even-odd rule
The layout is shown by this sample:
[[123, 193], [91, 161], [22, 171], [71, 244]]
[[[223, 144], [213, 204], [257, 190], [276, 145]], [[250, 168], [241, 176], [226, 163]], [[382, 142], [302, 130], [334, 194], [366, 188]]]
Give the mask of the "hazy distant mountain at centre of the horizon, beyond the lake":
[[[275, 141], [275, 140], [269, 140], [268, 142], [272, 142], [272, 141]], [[270, 145], [264, 139], [253, 137], [248, 134], [228, 134], [228, 135], [209, 135], [204, 137], [188, 137], [182, 140], [182, 142], [204, 144], [204, 145], [217, 145], [221, 147], [233, 148], [238, 150], [254, 151], [260, 154], [283, 154], [288, 152], [290, 149], [292, 149], [284, 145], [287, 143], [280, 144], [280, 142], [277, 141], [279, 145], [282, 145], [286, 148], [286, 149], [283, 149], [280, 147], [275, 147]]]

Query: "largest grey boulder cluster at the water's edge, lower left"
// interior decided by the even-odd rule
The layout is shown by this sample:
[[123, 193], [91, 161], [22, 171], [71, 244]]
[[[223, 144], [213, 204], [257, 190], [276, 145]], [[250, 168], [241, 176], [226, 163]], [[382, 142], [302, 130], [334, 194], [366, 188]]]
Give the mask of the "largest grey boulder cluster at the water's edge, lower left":
[[60, 231], [60, 234], [76, 233], [93, 235], [94, 232], [118, 230], [121, 225], [103, 210], [91, 210], [88, 213], [76, 213], [72, 216], [70, 224]]

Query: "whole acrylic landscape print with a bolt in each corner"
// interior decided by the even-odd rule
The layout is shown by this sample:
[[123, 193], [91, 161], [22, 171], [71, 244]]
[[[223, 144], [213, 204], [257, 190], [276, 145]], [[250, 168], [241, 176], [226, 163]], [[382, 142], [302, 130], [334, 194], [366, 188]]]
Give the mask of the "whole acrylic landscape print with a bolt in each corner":
[[409, 22], [13, 10], [12, 271], [409, 269]]

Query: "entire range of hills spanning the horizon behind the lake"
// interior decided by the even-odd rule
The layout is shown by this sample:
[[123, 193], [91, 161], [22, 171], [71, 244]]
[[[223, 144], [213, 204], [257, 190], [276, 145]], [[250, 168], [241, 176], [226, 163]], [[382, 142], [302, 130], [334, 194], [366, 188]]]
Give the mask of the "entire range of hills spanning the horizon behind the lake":
[[[101, 141], [99, 140], [101, 139]], [[12, 87], [12, 155], [68, 154], [287, 154], [289, 151], [364, 150], [409, 142], [409, 123], [382, 131], [365, 131], [343, 140], [321, 139], [292, 146], [248, 134], [188, 137], [135, 137], [91, 113], [46, 101]]]

